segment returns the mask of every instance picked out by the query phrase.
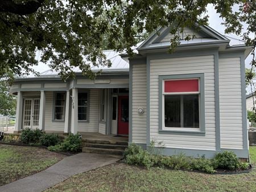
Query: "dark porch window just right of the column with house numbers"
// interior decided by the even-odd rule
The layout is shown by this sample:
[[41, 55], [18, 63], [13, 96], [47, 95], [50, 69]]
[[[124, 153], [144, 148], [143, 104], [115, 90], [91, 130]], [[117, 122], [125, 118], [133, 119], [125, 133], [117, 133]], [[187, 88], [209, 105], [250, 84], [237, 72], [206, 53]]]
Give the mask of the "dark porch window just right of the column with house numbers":
[[78, 93], [78, 120], [88, 120], [88, 94], [86, 92]]

